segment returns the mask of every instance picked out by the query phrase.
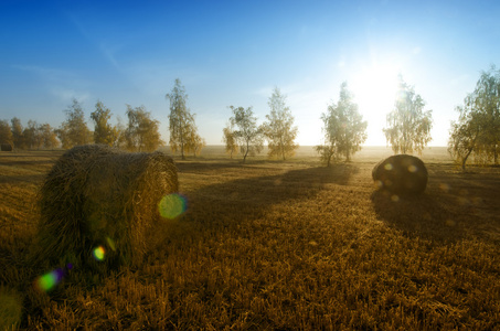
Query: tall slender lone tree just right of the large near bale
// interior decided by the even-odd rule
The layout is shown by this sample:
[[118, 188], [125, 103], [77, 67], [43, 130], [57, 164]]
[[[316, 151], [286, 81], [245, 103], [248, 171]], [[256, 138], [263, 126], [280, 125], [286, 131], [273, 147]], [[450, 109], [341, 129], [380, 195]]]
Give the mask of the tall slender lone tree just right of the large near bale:
[[167, 94], [166, 97], [170, 100], [170, 149], [173, 152], [180, 151], [182, 159], [189, 152], [193, 152], [194, 156], [199, 154], [206, 143], [198, 134], [194, 115], [187, 106], [185, 88], [181, 85], [179, 78], [175, 79], [172, 92]]

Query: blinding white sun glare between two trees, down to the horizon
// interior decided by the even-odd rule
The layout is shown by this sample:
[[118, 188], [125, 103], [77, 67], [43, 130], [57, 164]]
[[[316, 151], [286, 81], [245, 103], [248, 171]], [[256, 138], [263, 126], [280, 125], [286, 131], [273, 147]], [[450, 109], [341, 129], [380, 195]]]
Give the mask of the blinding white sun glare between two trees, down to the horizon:
[[363, 119], [368, 120], [365, 145], [385, 145], [382, 128], [385, 127], [386, 115], [394, 105], [398, 73], [396, 66], [372, 64], [361, 68], [349, 82], [360, 113]]

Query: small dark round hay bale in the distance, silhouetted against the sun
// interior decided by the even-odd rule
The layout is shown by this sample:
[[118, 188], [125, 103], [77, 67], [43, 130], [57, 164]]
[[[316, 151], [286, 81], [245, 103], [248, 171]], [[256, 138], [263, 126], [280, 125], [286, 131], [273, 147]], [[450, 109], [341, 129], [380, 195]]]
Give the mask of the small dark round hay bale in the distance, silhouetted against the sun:
[[428, 173], [424, 162], [413, 156], [397, 154], [379, 162], [372, 171], [380, 189], [397, 194], [416, 194], [425, 191]]

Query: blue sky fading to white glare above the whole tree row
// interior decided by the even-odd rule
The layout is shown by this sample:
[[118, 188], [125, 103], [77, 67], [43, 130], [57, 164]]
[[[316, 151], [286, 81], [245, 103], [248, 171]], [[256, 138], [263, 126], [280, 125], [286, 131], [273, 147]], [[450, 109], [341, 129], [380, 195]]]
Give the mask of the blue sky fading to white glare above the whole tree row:
[[287, 95], [300, 145], [321, 142], [321, 113], [347, 81], [366, 145], [382, 128], [401, 73], [433, 109], [446, 146], [455, 107], [481, 71], [500, 66], [500, 2], [9, 1], [0, 2], [0, 119], [58, 127], [76, 98], [126, 121], [143, 105], [168, 141], [164, 95], [180, 78], [200, 135], [222, 143], [227, 106], [262, 122], [272, 89]]

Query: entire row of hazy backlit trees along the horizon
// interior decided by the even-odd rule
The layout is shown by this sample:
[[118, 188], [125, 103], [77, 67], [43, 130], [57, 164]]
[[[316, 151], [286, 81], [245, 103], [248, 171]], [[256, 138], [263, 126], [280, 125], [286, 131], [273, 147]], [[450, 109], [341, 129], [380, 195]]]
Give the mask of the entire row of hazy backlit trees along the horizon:
[[[170, 93], [169, 145], [173, 153], [200, 154], [206, 146], [199, 135], [195, 114], [188, 108], [188, 94], [181, 81], [177, 78]], [[243, 162], [248, 156], [259, 153], [267, 141], [268, 157], [286, 160], [294, 157], [299, 145], [296, 142], [298, 127], [286, 104], [286, 95], [275, 87], [269, 99], [269, 114], [262, 125], [257, 125], [253, 107], [228, 106], [232, 116], [223, 128], [225, 151], [233, 156], [241, 153]], [[394, 153], [422, 154], [432, 140], [432, 110], [425, 110], [425, 100], [416, 94], [413, 86], [398, 76], [398, 88], [393, 109], [386, 115], [383, 132]], [[448, 151], [465, 170], [468, 160], [476, 163], [498, 164], [500, 152], [500, 71], [494, 66], [481, 72], [476, 88], [464, 99], [464, 105], [456, 108], [458, 120], [451, 122]], [[19, 118], [0, 120], [0, 142], [10, 143], [15, 149], [64, 149], [85, 143], [105, 143], [130, 151], [152, 151], [164, 145], [159, 132], [160, 122], [151, 118], [143, 106], [132, 108], [127, 105], [127, 124], [109, 122], [111, 111], [97, 102], [91, 114], [94, 130], [87, 126], [81, 104], [74, 99], [64, 110], [66, 120], [58, 127], [29, 120], [25, 128]], [[351, 157], [361, 149], [366, 140], [368, 122], [359, 113], [354, 96], [348, 83], [340, 85], [339, 99], [328, 105], [321, 115], [323, 122], [322, 141], [315, 147], [321, 160], [330, 166]]]

